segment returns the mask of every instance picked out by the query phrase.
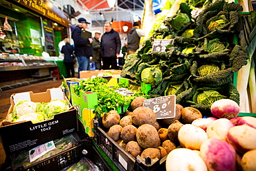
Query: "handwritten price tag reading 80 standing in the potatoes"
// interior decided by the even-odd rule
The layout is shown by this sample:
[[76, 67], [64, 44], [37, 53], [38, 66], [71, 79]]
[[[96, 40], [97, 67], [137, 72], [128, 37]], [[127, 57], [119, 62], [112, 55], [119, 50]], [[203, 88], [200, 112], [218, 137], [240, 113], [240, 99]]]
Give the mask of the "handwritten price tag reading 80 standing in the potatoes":
[[144, 100], [143, 106], [152, 109], [157, 119], [174, 118], [176, 107], [176, 96], [163, 96]]

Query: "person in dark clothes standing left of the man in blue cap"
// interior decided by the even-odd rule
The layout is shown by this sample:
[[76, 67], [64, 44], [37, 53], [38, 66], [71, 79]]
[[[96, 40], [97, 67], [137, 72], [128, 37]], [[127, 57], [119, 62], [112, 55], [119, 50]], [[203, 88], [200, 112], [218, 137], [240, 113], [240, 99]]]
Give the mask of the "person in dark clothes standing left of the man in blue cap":
[[75, 77], [75, 69], [74, 69], [74, 47], [71, 46], [71, 39], [66, 38], [66, 44], [62, 46], [61, 53], [64, 54], [64, 64], [66, 66], [66, 73], [68, 78]]

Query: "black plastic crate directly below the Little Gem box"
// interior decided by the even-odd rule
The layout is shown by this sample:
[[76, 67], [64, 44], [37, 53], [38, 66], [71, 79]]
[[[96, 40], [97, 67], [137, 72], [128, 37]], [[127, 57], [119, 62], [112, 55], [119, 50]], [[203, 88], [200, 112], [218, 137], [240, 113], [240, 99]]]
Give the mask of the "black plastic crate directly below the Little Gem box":
[[[91, 150], [91, 141], [83, 136], [78, 136], [77, 133], [58, 138], [53, 142], [56, 148], [32, 163], [27, 163], [29, 156], [27, 154], [28, 151], [26, 152], [25, 150], [22, 153], [12, 154], [12, 156], [7, 157], [6, 165], [8, 168], [12, 168], [12, 170], [62, 170], [80, 161], [83, 157], [91, 159], [94, 154], [93, 150]], [[66, 143], [66, 145], [62, 145], [62, 143]], [[59, 147], [60, 145], [62, 145], [63, 150], [59, 150], [61, 148]]]

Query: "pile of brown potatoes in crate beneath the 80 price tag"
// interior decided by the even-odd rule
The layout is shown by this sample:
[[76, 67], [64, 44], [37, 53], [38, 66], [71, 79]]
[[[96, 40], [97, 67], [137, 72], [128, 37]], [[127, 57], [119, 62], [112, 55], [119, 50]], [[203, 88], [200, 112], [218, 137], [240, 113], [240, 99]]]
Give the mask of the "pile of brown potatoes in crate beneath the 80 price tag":
[[131, 102], [131, 111], [123, 118], [117, 111], [109, 111], [102, 117], [102, 125], [113, 138], [131, 156], [138, 155], [145, 159], [161, 159], [180, 145], [179, 129], [183, 124], [192, 123], [202, 118], [200, 111], [193, 107], [176, 104], [175, 118], [156, 119], [152, 109], [143, 106], [144, 97], [137, 97]]

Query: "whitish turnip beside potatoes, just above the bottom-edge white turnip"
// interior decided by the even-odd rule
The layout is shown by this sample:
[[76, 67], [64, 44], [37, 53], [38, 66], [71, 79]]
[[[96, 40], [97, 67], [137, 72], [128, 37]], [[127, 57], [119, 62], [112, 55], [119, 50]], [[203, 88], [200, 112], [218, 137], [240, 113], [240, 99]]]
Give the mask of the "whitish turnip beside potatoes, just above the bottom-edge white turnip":
[[200, 127], [185, 124], [179, 129], [178, 138], [183, 147], [199, 150], [203, 141], [208, 139], [208, 136]]

